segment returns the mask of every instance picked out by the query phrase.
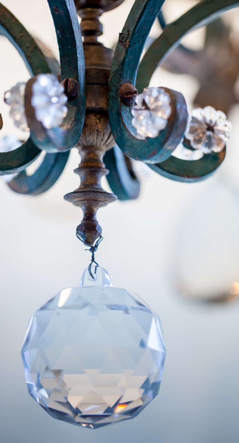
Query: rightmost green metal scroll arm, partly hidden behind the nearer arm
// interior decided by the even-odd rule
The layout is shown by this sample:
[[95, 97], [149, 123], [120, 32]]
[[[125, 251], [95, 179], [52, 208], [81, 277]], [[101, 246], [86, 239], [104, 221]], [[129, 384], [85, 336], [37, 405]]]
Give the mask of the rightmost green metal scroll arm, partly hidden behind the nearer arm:
[[[146, 51], [139, 65], [136, 87], [141, 90], [149, 84], [156, 67], [162, 64], [185, 34], [237, 6], [239, 6], [239, 1], [235, 0], [217, 0], [216, 2], [204, 0], [169, 24]], [[225, 149], [219, 154], [209, 154], [195, 161], [181, 160], [171, 156], [168, 160], [155, 164], [152, 169], [173, 180], [193, 182], [211, 175], [220, 166], [224, 157]]]

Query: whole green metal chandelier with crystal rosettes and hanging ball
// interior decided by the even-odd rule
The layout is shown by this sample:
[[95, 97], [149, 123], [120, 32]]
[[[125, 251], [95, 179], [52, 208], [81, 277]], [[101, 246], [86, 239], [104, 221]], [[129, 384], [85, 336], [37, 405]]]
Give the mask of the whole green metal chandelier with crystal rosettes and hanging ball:
[[[70, 149], [80, 152], [80, 186], [65, 199], [83, 210], [76, 233], [91, 262], [77, 288], [63, 289], [31, 317], [22, 358], [28, 392], [50, 416], [94, 429], [134, 418], [157, 396], [166, 355], [158, 315], [139, 295], [114, 288], [96, 262], [103, 240], [96, 212], [116, 198], [138, 197], [131, 159], [187, 183], [208, 178], [223, 162], [231, 131], [225, 113], [206, 106], [189, 114], [181, 93], [148, 85], [187, 32], [239, 2], [204, 0], [166, 26], [163, 0], [136, 0], [112, 51], [98, 41], [100, 16], [123, 0], [47, 1], [60, 69], [0, 4], [0, 32], [31, 75], [4, 95], [29, 138], [0, 152], [0, 174], [17, 193], [41, 194], [62, 174]], [[156, 19], [162, 34], [141, 58]], [[181, 158], [173, 155], [178, 146]], [[27, 175], [42, 151], [42, 163]], [[104, 175], [112, 193], [101, 186]]]

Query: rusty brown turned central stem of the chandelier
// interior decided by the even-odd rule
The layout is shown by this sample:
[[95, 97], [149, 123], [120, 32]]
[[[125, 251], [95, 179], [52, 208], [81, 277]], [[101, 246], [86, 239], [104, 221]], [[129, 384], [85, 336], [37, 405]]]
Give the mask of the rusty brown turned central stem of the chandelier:
[[[79, 11], [83, 18], [89, 11]], [[107, 149], [115, 144], [108, 121], [108, 76], [112, 60], [112, 51], [97, 42], [99, 11], [90, 11], [90, 19], [81, 22], [84, 37], [86, 66], [86, 112], [85, 122], [77, 148], [81, 154], [81, 163], [75, 172], [81, 177], [80, 186], [65, 195], [65, 199], [83, 210], [83, 220], [77, 226], [77, 236], [86, 245], [93, 245], [100, 237], [102, 229], [96, 219], [97, 210], [116, 200], [101, 186], [101, 178], [108, 174], [103, 163]]]

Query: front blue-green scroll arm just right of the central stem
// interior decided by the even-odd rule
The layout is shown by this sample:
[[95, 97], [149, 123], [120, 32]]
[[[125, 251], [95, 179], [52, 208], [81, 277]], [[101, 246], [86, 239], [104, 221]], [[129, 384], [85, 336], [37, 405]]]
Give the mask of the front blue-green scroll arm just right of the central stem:
[[182, 94], [169, 90], [173, 111], [167, 128], [154, 139], [144, 139], [131, 124], [130, 107], [119, 97], [120, 85], [135, 84], [146, 38], [163, 3], [164, 0], [135, 1], [116, 46], [109, 80], [109, 120], [116, 143], [128, 157], [146, 163], [157, 163], [170, 156], [185, 132], [188, 116]]

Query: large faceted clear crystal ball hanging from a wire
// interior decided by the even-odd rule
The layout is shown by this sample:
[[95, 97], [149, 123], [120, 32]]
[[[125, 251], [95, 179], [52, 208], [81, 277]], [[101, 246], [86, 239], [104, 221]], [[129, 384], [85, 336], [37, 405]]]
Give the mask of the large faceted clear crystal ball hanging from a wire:
[[165, 354], [158, 315], [99, 266], [32, 315], [22, 348], [29, 394], [90, 429], [137, 416], [158, 394]]

